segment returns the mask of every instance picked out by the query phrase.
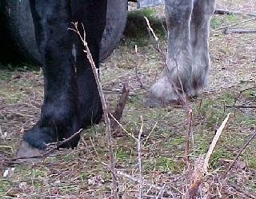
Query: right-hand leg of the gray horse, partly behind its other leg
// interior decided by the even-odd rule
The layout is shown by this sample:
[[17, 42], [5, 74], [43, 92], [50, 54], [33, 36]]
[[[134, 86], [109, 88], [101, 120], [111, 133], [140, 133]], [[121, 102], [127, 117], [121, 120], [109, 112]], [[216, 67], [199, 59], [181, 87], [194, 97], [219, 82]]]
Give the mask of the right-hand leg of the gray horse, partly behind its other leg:
[[214, 0], [194, 0], [190, 22], [190, 39], [193, 54], [191, 89], [187, 94], [198, 95], [206, 84], [210, 68], [209, 31], [210, 19], [214, 14]]

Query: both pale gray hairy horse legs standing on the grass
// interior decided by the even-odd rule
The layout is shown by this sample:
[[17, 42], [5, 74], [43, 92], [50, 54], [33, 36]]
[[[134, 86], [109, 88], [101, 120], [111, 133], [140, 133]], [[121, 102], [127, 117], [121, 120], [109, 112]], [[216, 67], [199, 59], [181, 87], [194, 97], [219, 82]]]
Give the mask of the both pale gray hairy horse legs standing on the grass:
[[210, 67], [209, 24], [214, 0], [166, 0], [168, 48], [161, 77], [150, 89], [148, 105], [165, 105], [178, 100], [170, 79], [179, 92], [196, 96], [206, 82]]

